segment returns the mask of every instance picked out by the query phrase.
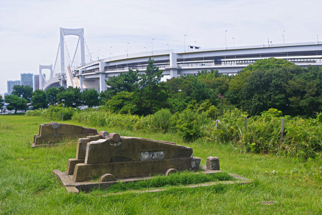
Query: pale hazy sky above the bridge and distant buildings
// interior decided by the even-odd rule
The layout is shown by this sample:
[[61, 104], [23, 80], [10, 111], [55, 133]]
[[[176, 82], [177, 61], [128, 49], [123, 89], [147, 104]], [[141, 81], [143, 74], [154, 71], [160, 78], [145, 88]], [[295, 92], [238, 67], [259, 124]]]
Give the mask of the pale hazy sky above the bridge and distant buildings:
[[[59, 27], [84, 28], [93, 58], [170, 49], [322, 41], [321, 0], [0, 0], [0, 94], [55, 63]], [[225, 31], [226, 36], [225, 36]], [[285, 32], [284, 32], [285, 31]], [[184, 36], [187, 35], [187, 36]], [[232, 37], [234, 39], [232, 39]], [[78, 38], [65, 36], [70, 53]], [[194, 42], [196, 41], [196, 42]], [[128, 46], [127, 46], [127, 43]], [[100, 50], [100, 51], [98, 51]], [[88, 51], [86, 54], [88, 55]], [[88, 58], [88, 57], [87, 57]]]

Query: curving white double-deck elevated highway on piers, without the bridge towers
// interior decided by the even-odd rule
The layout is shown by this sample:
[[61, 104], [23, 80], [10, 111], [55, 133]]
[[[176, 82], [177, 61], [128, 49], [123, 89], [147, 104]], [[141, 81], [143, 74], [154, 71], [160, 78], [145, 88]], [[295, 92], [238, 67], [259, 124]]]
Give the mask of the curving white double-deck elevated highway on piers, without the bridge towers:
[[256, 60], [269, 57], [286, 59], [302, 67], [322, 66], [322, 42], [227, 47], [187, 52], [173, 52], [173, 50], [140, 52], [86, 63], [77, 67], [74, 75], [79, 78], [81, 89], [94, 88], [102, 92], [107, 88], [105, 80], [109, 77], [126, 73], [128, 69], [138, 69], [143, 73], [149, 58], [154, 59], [154, 64], [163, 71], [163, 75], [172, 78], [197, 74], [198, 71], [205, 69], [217, 69], [223, 74], [236, 74], [238, 70]]

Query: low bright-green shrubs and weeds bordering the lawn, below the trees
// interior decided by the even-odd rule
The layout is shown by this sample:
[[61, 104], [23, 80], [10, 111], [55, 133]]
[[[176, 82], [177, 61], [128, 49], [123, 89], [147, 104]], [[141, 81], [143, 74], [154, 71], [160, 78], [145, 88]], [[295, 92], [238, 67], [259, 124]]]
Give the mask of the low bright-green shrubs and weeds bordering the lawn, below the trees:
[[[322, 158], [322, 114], [316, 119], [303, 119], [282, 116], [281, 111], [272, 108], [264, 111], [261, 116], [249, 117], [245, 130], [244, 119], [248, 114], [244, 111], [227, 109], [214, 119], [211, 117], [216, 111], [213, 106], [208, 105], [207, 109], [207, 104], [202, 103], [192, 107], [194, 109], [187, 108], [175, 114], [171, 114], [169, 109], [161, 109], [153, 115], [138, 116], [113, 113], [104, 108], [74, 110], [50, 106], [48, 110], [28, 111], [27, 115], [42, 115], [48, 119], [60, 120], [64, 113], [66, 119], [72, 118], [92, 126], [168, 132], [188, 142], [201, 138], [209, 142], [230, 143], [253, 153], [304, 159]], [[285, 130], [281, 139], [282, 118], [285, 118]]]

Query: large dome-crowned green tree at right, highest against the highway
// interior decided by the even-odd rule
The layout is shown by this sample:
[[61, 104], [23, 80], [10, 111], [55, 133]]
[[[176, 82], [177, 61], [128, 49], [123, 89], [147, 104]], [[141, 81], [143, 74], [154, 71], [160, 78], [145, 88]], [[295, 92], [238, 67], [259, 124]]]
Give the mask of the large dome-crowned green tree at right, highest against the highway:
[[262, 59], [247, 66], [231, 80], [229, 90], [237, 95], [239, 108], [251, 115], [258, 115], [270, 108], [290, 114], [287, 86], [302, 73], [300, 66], [287, 60]]

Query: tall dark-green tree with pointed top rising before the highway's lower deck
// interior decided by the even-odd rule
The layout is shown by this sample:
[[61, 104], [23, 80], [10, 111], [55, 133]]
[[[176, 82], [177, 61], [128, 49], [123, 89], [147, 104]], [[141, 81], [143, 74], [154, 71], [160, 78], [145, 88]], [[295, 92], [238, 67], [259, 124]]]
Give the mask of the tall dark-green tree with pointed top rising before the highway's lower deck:
[[139, 75], [138, 88], [133, 93], [133, 103], [137, 114], [147, 115], [169, 106], [168, 93], [159, 85], [162, 71], [153, 65], [154, 60], [148, 60], [145, 74]]

